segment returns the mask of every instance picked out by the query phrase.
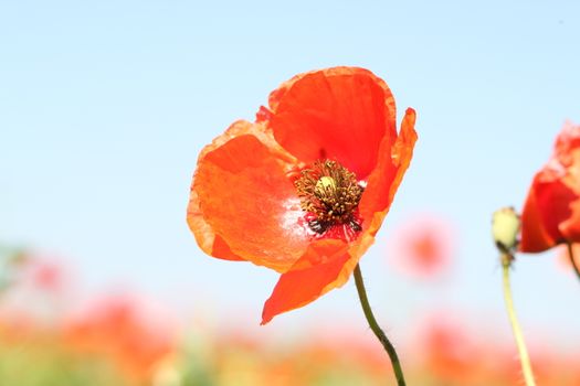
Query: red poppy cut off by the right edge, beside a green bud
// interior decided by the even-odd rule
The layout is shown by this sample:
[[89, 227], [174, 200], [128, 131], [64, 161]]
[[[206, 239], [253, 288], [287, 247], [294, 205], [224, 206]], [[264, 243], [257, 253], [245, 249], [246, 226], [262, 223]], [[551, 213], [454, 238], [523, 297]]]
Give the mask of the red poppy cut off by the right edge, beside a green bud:
[[567, 122], [536, 174], [521, 214], [519, 249], [539, 253], [580, 242], [580, 126]]

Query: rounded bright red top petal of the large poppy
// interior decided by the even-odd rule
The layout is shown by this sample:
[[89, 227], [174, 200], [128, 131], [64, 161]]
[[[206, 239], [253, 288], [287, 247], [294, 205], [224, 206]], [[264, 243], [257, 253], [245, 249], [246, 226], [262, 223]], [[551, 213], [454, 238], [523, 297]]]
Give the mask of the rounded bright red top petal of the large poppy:
[[397, 136], [389, 87], [362, 68], [302, 74], [272, 93], [270, 108], [283, 148], [305, 163], [336, 159], [359, 180], [375, 169], [381, 141]]

